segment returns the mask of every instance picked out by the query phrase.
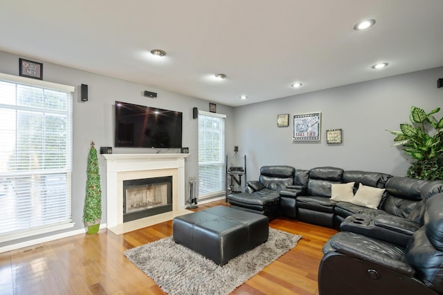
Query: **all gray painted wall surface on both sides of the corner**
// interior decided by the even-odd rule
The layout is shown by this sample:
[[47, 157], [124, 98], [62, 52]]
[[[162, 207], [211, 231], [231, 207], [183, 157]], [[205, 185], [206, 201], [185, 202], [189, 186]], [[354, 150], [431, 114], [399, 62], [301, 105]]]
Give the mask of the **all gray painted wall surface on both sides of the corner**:
[[[18, 75], [19, 57], [35, 60], [0, 51], [0, 72]], [[76, 86], [73, 102], [74, 229], [83, 227], [89, 143], [93, 140], [96, 147], [114, 145], [116, 100], [183, 112], [183, 146], [189, 146], [191, 153], [186, 158], [186, 179], [198, 175], [197, 120], [192, 119], [192, 107], [208, 111], [207, 101], [42, 62], [45, 81]], [[442, 106], [443, 88], [436, 87], [437, 79], [442, 77], [443, 68], [434, 68], [237, 108], [217, 104], [217, 113], [227, 115], [226, 153], [232, 155], [233, 146], [238, 145], [239, 155], [247, 155], [248, 180], [258, 178], [260, 166], [273, 164], [287, 164], [300, 169], [338, 166], [404, 175], [409, 166], [408, 160], [403, 152], [392, 147], [393, 135], [386, 129], [398, 130], [401, 122], [408, 122], [411, 105], [426, 111]], [[89, 85], [89, 102], [80, 101], [80, 84]], [[143, 97], [145, 90], [156, 92], [159, 97]], [[313, 111], [322, 113], [320, 142], [293, 143], [292, 122], [289, 127], [277, 126], [278, 114], [289, 113], [292, 117]], [[443, 111], [436, 115], [440, 116], [443, 116]], [[337, 128], [343, 129], [343, 144], [326, 144], [325, 130]], [[152, 152], [152, 149], [114, 148], [114, 153]], [[105, 222], [105, 161], [99, 157], [99, 162], [104, 209], [102, 222]]]

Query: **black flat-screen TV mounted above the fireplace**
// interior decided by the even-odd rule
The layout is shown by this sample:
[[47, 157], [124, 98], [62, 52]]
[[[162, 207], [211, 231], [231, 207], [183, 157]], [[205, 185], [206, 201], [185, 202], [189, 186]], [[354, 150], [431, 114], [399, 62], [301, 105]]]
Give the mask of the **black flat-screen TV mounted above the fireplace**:
[[182, 117], [177, 111], [116, 102], [115, 146], [179, 149]]

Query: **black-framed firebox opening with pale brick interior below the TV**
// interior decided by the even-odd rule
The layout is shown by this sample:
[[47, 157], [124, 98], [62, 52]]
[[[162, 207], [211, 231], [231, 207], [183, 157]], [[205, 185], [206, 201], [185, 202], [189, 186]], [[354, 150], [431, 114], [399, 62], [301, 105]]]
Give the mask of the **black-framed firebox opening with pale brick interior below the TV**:
[[123, 180], [123, 222], [172, 211], [172, 176]]

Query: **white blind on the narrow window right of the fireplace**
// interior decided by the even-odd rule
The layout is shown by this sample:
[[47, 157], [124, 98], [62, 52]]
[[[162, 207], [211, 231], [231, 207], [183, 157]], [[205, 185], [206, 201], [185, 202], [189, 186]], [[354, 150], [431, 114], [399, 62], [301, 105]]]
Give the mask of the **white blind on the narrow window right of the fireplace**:
[[199, 112], [199, 198], [225, 191], [224, 115]]

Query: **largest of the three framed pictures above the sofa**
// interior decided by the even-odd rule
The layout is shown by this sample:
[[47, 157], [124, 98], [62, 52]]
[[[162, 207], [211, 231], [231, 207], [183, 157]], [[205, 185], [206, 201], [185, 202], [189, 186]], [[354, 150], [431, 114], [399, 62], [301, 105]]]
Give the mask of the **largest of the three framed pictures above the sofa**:
[[293, 116], [293, 141], [320, 141], [321, 113]]

